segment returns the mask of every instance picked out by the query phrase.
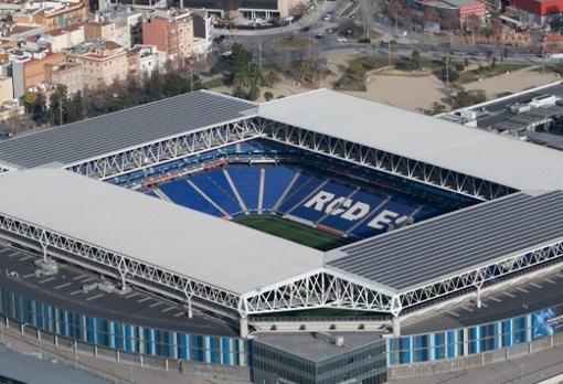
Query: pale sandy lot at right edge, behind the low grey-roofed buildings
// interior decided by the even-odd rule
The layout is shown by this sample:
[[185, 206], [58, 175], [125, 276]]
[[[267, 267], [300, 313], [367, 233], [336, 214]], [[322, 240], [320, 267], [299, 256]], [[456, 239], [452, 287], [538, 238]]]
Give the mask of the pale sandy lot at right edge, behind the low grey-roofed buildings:
[[[538, 71], [538, 68], [540, 71]], [[503, 92], [517, 93], [528, 88], [560, 81], [556, 73], [541, 72], [541, 67], [529, 67], [507, 73], [500, 76], [484, 78], [478, 82], [467, 83], [466, 89], [482, 89], [487, 98], [495, 98]]]

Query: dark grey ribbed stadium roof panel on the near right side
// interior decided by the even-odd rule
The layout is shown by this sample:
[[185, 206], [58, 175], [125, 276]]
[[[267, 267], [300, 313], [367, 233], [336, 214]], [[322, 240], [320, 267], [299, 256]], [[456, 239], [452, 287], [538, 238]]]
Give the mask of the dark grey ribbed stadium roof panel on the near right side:
[[327, 265], [396, 291], [563, 239], [563, 191], [516, 193], [343, 246]]

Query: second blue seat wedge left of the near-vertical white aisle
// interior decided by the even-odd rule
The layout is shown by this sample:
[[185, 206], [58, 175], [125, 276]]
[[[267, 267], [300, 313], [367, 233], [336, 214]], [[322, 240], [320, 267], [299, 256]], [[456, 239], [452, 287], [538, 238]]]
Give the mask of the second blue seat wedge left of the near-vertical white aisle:
[[242, 207], [223, 174], [223, 169], [217, 168], [198, 173], [192, 175], [190, 180], [230, 215], [235, 216], [242, 213]]

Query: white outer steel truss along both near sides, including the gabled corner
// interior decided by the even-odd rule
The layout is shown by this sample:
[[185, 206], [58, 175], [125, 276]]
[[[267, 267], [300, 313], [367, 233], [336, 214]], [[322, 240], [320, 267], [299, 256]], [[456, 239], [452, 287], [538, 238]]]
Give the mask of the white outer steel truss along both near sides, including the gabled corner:
[[200, 299], [235, 310], [241, 317], [315, 308], [339, 308], [386, 312], [399, 316], [402, 309], [417, 306], [456, 291], [475, 287], [506, 275], [556, 260], [563, 256], [563, 241], [475, 268], [464, 274], [405, 292], [393, 292], [376, 282], [363, 281], [322, 267], [258, 291], [237, 295], [153, 265], [87, 244], [47, 228], [0, 215], [0, 235], [18, 243], [39, 245], [50, 254], [81, 266], [92, 266], [120, 276], [134, 285], [169, 295], [174, 299]]

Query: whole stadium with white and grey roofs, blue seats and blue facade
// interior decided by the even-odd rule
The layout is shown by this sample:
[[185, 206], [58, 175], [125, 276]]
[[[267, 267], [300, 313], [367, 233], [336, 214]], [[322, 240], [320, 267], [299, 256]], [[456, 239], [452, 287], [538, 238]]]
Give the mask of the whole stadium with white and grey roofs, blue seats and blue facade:
[[509, 360], [563, 343], [561, 163], [326, 89], [200, 90], [18, 136], [0, 142], [0, 314], [257, 383]]

